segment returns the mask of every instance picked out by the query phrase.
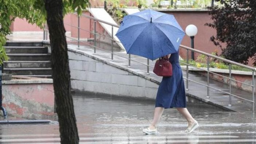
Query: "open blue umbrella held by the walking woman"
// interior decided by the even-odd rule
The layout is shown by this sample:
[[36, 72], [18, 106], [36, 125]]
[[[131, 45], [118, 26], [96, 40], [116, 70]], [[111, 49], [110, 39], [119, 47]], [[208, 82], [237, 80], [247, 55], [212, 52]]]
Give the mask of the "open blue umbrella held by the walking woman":
[[125, 16], [116, 34], [128, 54], [151, 60], [178, 52], [184, 35], [173, 15], [151, 9]]

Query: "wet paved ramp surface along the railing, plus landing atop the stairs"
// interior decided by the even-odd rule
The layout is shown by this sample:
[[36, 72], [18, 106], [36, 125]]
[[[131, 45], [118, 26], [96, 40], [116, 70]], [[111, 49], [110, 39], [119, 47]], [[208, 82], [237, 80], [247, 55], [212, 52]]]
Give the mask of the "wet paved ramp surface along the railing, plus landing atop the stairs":
[[[35, 40], [35, 41], [40, 41], [42, 40], [42, 37], [40, 35], [9, 35], [8, 36], [9, 40], [11, 41], [28, 41], [29, 40]], [[76, 43], [73, 41], [69, 41], [69, 48], [74, 49], [74, 50], [78, 50], [77, 49], [77, 45]], [[131, 62], [131, 67], [127, 67], [128, 66], [128, 55], [126, 54], [125, 51], [115, 51], [114, 54], [114, 61], [111, 61], [111, 54], [107, 53], [103, 50], [96, 50], [96, 55], [93, 54], [94, 50], [93, 48], [88, 47], [88, 44], [93, 45], [92, 42], [89, 43], [80, 43], [80, 49], [78, 51], [85, 51], [87, 54], [92, 55], [93, 57], [96, 58], [100, 58], [106, 62], [109, 63], [113, 63], [117, 66], [121, 66], [124, 69], [127, 70], [131, 70], [134, 71], [135, 73], [138, 74], [142, 74], [150, 79], [153, 79], [157, 82], [161, 81], [161, 77], [158, 77], [157, 75], [155, 75], [152, 72], [152, 69], [154, 67], [155, 62], [150, 61], [150, 74], [147, 74], [147, 66], [136, 63], [136, 62]], [[122, 57], [119, 57], [117, 55], [120, 55]], [[141, 63], [147, 64], [147, 59], [143, 58], [143, 57], [138, 57], [136, 55], [131, 55], [131, 59], [135, 60], [135, 61], [139, 61]], [[183, 71], [183, 77], [186, 77], [186, 73], [185, 71]], [[189, 79], [192, 79], [193, 81], [202, 83], [202, 84], [207, 84], [207, 79], [206, 77], [202, 77], [199, 76], [197, 74], [194, 73], [189, 73]], [[186, 82], [186, 81], [185, 81]], [[210, 81], [210, 86], [215, 87], [217, 89], [220, 89], [224, 92], [229, 92], [229, 86], [221, 83], [221, 82], [217, 82], [214, 80]], [[219, 92], [217, 90], [214, 89], [210, 89], [210, 98], [206, 98], [207, 96], [207, 88], [205, 86], [199, 85], [197, 83], [193, 83], [193, 82], [189, 82], [189, 90], [186, 90], [186, 93], [194, 98], [197, 98], [198, 100], [204, 101], [206, 103], [212, 104], [212, 105], [216, 105], [218, 107], [227, 109], [227, 110], [233, 110], [236, 112], [247, 112], [247, 111], [251, 111], [252, 110], [252, 103], [251, 102], [247, 102], [244, 100], [241, 100], [239, 98], [236, 97], [232, 97], [232, 106], [228, 106], [228, 100], [229, 100], [229, 96], [227, 96], [227, 94]], [[240, 89], [236, 89], [234, 87], [232, 87], [232, 93], [240, 96], [240, 97], [244, 97], [247, 98], [249, 100], [252, 100], [252, 94], [245, 92], [243, 90]]]

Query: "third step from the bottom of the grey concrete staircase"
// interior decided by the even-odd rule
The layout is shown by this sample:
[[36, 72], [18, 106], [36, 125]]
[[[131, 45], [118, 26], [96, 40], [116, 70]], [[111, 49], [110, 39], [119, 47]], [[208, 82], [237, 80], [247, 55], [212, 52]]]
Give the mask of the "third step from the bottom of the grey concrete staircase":
[[7, 54], [11, 61], [49, 61], [50, 54]]

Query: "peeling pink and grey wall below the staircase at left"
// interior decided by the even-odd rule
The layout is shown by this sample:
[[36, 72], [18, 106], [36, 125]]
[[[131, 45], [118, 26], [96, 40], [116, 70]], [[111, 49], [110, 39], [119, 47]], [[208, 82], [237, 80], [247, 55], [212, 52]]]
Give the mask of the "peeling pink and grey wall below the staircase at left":
[[54, 115], [53, 84], [3, 84], [3, 106], [8, 114], [14, 117], [52, 117]]

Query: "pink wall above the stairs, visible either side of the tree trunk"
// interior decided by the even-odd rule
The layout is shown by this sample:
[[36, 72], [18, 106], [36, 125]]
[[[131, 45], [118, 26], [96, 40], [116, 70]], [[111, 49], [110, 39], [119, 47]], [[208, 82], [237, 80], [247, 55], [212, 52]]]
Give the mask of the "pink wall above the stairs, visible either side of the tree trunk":
[[[64, 17], [64, 23], [68, 23], [70, 24], [71, 23], [71, 14], [69, 15], [66, 15]], [[71, 30], [71, 27], [67, 24], [64, 24], [65, 25], [65, 29], [66, 31], [70, 31]], [[14, 20], [14, 22], [12, 22], [12, 25], [10, 27], [11, 31], [12, 32], [18, 32], [18, 31], [42, 31], [38, 26], [36, 26], [35, 24], [30, 24], [27, 22], [26, 19], [20, 19], [20, 18], [16, 18]]]

